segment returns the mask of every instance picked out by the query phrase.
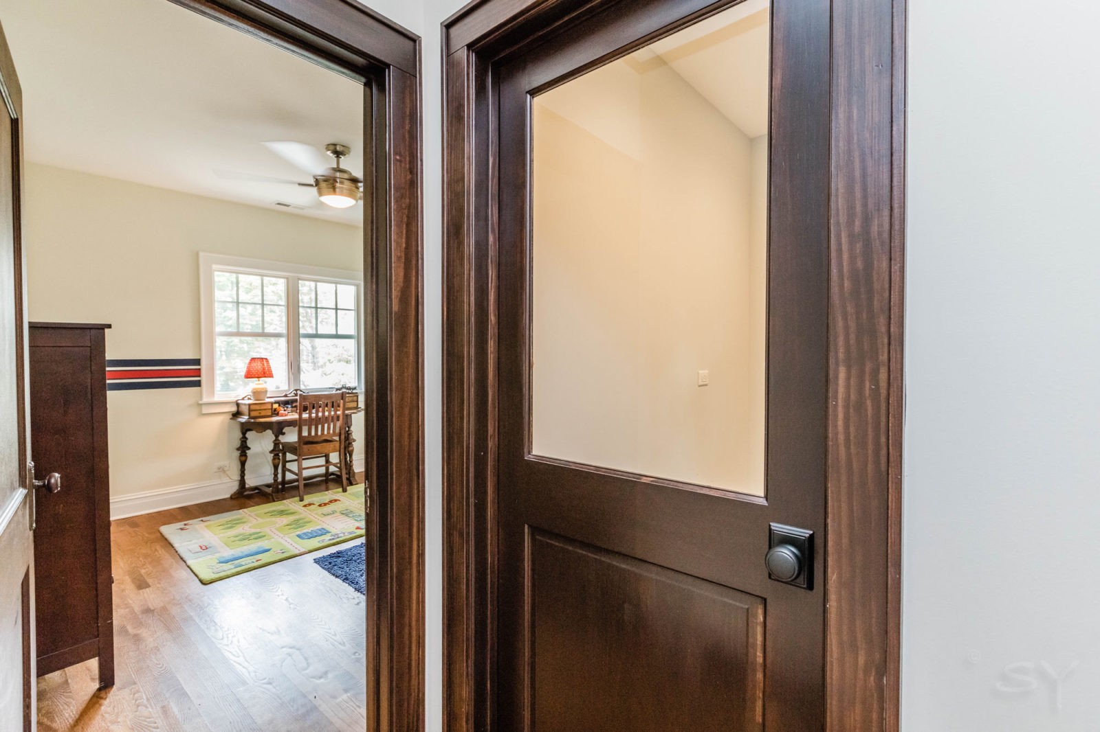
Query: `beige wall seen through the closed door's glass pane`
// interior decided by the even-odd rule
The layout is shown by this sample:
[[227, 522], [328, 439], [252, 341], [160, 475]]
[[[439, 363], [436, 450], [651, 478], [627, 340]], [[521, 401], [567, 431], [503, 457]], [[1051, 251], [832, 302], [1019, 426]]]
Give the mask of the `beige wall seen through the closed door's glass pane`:
[[663, 63], [535, 121], [534, 451], [761, 493], [766, 138]]

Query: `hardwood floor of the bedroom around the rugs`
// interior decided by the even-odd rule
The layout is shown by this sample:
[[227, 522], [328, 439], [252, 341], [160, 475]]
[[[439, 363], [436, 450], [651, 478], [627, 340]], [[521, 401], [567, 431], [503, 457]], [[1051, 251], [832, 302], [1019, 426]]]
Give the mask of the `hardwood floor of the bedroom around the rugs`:
[[117, 683], [95, 659], [43, 676], [41, 732], [365, 729], [364, 599], [312, 562], [355, 542], [204, 586], [158, 531], [266, 500], [112, 523]]

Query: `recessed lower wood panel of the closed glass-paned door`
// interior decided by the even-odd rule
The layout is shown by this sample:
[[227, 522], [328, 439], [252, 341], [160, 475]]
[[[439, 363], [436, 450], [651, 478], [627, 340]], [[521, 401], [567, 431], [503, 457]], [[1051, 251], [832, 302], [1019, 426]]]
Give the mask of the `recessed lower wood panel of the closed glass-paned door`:
[[527, 684], [554, 689], [535, 697], [536, 729], [761, 729], [760, 598], [539, 531], [530, 542]]

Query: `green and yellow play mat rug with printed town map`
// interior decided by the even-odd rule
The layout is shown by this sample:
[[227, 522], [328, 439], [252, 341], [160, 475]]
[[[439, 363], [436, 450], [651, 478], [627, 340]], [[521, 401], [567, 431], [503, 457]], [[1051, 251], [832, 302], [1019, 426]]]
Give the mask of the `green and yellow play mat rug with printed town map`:
[[362, 536], [363, 486], [170, 523], [161, 533], [204, 585]]

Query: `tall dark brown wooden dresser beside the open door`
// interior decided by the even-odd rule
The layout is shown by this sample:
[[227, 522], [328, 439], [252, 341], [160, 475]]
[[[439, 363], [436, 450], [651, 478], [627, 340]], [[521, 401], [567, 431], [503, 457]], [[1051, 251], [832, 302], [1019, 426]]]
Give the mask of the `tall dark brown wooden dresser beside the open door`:
[[38, 676], [99, 656], [100, 688], [114, 683], [108, 328], [31, 323], [29, 342], [31, 458], [38, 478], [62, 477], [58, 492], [35, 491]]

